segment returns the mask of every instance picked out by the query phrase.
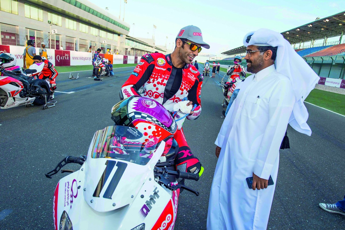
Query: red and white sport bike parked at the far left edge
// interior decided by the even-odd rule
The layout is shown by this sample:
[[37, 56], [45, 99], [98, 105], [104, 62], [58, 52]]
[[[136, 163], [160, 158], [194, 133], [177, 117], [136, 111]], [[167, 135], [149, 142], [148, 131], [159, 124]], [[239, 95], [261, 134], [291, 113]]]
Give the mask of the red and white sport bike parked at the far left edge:
[[[37, 79], [44, 67], [44, 63], [34, 63], [29, 69], [22, 71], [20, 66], [5, 69], [6, 63], [15, 62], [12, 54], [0, 54], [0, 109], [18, 106], [43, 106], [47, 105], [50, 97], [50, 86], [42, 79]], [[49, 102], [48, 102], [49, 104]]]

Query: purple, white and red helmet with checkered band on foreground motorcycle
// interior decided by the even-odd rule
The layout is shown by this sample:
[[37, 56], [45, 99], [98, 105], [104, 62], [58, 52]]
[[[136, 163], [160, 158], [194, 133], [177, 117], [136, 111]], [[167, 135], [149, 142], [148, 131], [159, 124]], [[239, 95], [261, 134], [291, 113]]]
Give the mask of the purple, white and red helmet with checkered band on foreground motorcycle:
[[166, 108], [150, 98], [131, 96], [111, 109], [111, 119], [118, 126], [136, 128], [150, 139], [168, 140], [177, 131], [177, 124]]

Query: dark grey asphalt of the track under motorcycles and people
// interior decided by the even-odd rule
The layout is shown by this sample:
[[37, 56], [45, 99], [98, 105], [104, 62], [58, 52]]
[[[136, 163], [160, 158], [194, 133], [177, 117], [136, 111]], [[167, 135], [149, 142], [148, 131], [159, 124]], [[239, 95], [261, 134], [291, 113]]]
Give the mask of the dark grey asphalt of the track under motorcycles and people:
[[[47, 179], [66, 156], [86, 154], [93, 133], [113, 124], [111, 107], [134, 67], [115, 70], [116, 77], [93, 81], [91, 71], [79, 79], [58, 76], [55, 107], [18, 107], [0, 111], [0, 229], [53, 229], [52, 197], [59, 179]], [[220, 72], [224, 74], [223, 72]], [[77, 73], [73, 73], [77, 75]], [[205, 78], [199, 119], [184, 123], [185, 135], [205, 168], [187, 186], [200, 196], [181, 193], [176, 230], [206, 229], [209, 191], [217, 158], [214, 141], [224, 118], [221, 77]], [[217, 81], [217, 82], [215, 82]], [[306, 104], [311, 137], [288, 127], [291, 149], [280, 151], [277, 186], [267, 229], [345, 229], [345, 216], [321, 210], [345, 193], [345, 117]], [[225, 109], [225, 108], [224, 108]], [[78, 169], [67, 166], [66, 169]]]

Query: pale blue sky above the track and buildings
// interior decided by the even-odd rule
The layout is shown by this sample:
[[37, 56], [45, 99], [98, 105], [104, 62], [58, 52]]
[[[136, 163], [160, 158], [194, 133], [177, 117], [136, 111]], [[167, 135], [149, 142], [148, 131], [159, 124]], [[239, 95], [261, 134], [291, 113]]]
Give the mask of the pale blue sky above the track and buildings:
[[[99, 1], [89, 1], [100, 6]], [[102, 3], [118, 17], [120, 1], [122, 20], [124, 0], [105, 0]], [[345, 0], [127, 2], [125, 22], [131, 25], [129, 36], [151, 38], [155, 24], [156, 45], [165, 45], [167, 40], [172, 46], [179, 30], [193, 24], [201, 29], [204, 41], [211, 46], [205, 52], [212, 54], [242, 46], [243, 36], [249, 31], [268, 28], [283, 32], [312, 22], [316, 17], [324, 18], [345, 10]]]

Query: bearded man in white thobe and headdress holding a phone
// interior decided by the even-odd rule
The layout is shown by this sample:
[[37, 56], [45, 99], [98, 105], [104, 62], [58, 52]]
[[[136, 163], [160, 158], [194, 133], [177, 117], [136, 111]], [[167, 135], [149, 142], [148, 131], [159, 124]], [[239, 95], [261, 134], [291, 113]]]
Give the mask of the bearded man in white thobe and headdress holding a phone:
[[[250, 32], [244, 46], [247, 71], [254, 74], [242, 82], [215, 142], [208, 230], [265, 230], [287, 124], [311, 135], [303, 101], [319, 79], [315, 72], [275, 31]], [[270, 176], [274, 184], [267, 186]]]

